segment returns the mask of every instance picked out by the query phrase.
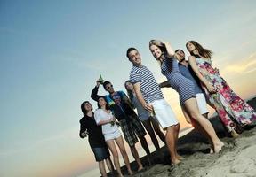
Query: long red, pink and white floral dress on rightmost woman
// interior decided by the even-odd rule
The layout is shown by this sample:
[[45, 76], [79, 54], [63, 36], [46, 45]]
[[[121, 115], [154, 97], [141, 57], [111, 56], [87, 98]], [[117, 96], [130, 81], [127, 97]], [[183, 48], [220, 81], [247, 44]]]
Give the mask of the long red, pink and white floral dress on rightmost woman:
[[228, 132], [233, 130], [236, 125], [244, 126], [256, 120], [256, 112], [249, 104], [237, 96], [220, 76], [220, 73], [212, 68], [211, 60], [196, 58], [196, 65], [204, 78], [217, 89], [217, 93], [210, 94], [202, 84], [207, 98], [214, 105], [220, 120], [227, 127]]

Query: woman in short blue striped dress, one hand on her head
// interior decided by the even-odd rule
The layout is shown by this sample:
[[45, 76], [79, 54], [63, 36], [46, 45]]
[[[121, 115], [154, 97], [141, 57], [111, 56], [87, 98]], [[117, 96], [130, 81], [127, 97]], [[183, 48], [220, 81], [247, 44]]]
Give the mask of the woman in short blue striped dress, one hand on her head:
[[205, 119], [199, 112], [196, 103], [195, 86], [192, 81], [180, 73], [178, 60], [174, 56], [175, 52], [172, 50], [170, 43], [151, 40], [149, 49], [160, 64], [161, 71], [169, 81], [172, 89], [179, 93], [182, 111], [184, 114], [188, 114], [192, 125], [207, 136], [212, 144], [211, 151], [218, 153], [224, 143], [216, 135], [210, 121]]

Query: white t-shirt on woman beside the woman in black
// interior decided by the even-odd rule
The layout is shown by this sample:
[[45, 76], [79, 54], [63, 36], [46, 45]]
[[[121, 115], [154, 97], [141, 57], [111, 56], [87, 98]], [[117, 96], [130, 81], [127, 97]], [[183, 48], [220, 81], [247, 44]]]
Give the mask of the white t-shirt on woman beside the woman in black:
[[[111, 112], [107, 113], [107, 112], [103, 111], [102, 109], [97, 109], [94, 112], [94, 118], [95, 118], [96, 123], [99, 124], [100, 120], [112, 119], [113, 115], [112, 115]], [[102, 127], [102, 133], [104, 135], [114, 133], [118, 129], [116, 124], [113, 127], [111, 127], [111, 123], [110, 122], [108, 124], [102, 125], [101, 127]]]

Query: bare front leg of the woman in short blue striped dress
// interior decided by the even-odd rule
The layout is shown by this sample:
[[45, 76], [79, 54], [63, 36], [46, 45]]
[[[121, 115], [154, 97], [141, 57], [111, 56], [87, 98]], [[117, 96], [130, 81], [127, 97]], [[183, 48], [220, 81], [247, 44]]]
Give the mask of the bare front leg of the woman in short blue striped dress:
[[220, 141], [218, 136], [215, 133], [215, 130], [212, 127], [212, 124], [208, 119], [205, 119], [199, 112], [198, 106], [196, 103], [196, 98], [190, 98], [184, 103], [190, 118], [195, 120], [196, 127], [201, 127], [204, 129], [205, 133], [210, 137], [210, 141], [213, 145], [214, 152], [219, 152], [224, 145], [223, 142]]

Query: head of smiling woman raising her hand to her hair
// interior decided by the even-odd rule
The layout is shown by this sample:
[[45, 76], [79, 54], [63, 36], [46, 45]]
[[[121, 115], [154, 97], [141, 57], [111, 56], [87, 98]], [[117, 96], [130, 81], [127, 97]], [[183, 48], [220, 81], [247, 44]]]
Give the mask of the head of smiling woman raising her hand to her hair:
[[149, 42], [149, 50], [151, 51], [154, 58], [156, 58], [156, 60], [159, 60], [159, 58], [161, 58], [164, 53], [166, 53], [164, 44], [157, 40], [151, 40]]

